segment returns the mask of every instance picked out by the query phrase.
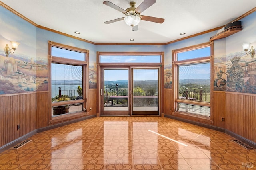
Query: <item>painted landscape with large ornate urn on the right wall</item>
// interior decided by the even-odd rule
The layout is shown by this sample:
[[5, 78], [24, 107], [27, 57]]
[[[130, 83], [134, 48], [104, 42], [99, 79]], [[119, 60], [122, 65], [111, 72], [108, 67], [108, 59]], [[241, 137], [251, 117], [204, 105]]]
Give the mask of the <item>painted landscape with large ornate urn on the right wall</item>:
[[214, 90], [256, 94], [256, 59], [244, 51], [214, 59]]

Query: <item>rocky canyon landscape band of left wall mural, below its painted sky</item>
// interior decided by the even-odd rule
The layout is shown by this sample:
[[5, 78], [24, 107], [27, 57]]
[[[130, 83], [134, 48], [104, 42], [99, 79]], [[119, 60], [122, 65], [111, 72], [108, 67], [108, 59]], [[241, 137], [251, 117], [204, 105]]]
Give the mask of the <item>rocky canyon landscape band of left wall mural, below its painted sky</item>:
[[[37, 64], [34, 58], [30, 61], [20, 57], [0, 55], [0, 94], [35, 91], [37, 84], [44, 84], [42, 76], [36, 77], [36, 70], [47, 72], [46, 64]], [[41, 74], [43, 75], [43, 74]], [[42, 85], [38, 87], [42, 88]], [[48, 90], [48, 86], [46, 87]]]

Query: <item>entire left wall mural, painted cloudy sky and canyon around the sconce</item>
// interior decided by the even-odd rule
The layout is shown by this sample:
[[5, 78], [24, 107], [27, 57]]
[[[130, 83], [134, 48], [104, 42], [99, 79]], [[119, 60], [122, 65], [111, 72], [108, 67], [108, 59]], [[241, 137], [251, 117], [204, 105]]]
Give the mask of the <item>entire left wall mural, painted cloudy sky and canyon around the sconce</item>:
[[[37, 60], [36, 27], [2, 6], [0, 16], [0, 94], [48, 90], [48, 61]], [[20, 45], [6, 57], [10, 41]]]

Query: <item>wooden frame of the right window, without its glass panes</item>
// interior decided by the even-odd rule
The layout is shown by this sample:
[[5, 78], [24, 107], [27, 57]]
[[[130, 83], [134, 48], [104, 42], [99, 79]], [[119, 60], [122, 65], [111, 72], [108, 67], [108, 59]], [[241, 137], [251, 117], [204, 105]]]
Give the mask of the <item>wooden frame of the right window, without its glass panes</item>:
[[[210, 56], [206, 57], [198, 57], [194, 59], [186, 59], [177, 61], [178, 53], [192, 51], [196, 49], [201, 49], [205, 47], [210, 47]], [[197, 63], [210, 63], [210, 103], [209, 102], [200, 102], [200, 101], [192, 101], [192, 100], [181, 100], [178, 98], [179, 89], [178, 89], [178, 66], [186, 65], [186, 64], [197, 64]], [[172, 115], [176, 115], [179, 117], [185, 117], [188, 119], [196, 119], [198, 121], [213, 123], [213, 68], [214, 68], [214, 57], [213, 57], [213, 41], [209, 41], [207, 43], [202, 43], [198, 45], [193, 45], [189, 47], [184, 47], [181, 49], [172, 50], [172, 82], [173, 82], [173, 93], [172, 100], [174, 101], [172, 104]], [[204, 115], [197, 115], [193, 113], [186, 113], [182, 111], [178, 111], [178, 103], [184, 104], [192, 104], [192, 105], [200, 105], [210, 107], [210, 117]]]

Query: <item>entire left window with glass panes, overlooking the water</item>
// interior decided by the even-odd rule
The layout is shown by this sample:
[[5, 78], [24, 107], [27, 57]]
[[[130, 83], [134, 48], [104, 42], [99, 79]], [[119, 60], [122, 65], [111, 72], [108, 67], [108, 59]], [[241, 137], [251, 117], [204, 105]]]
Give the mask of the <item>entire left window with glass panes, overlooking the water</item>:
[[[49, 41], [50, 118], [79, 115], [86, 109], [88, 51]], [[76, 113], [76, 114], [73, 114]]]

